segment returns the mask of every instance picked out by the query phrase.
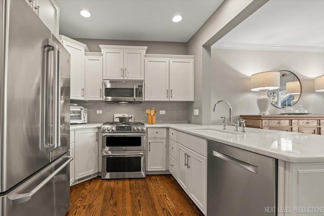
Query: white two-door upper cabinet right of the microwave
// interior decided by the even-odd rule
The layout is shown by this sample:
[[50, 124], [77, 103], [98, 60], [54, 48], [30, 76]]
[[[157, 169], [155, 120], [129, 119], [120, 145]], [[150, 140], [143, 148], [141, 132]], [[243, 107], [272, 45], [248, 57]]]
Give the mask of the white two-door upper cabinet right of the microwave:
[[193, 101], [193, 58], [145, 55], [145, 101]]

